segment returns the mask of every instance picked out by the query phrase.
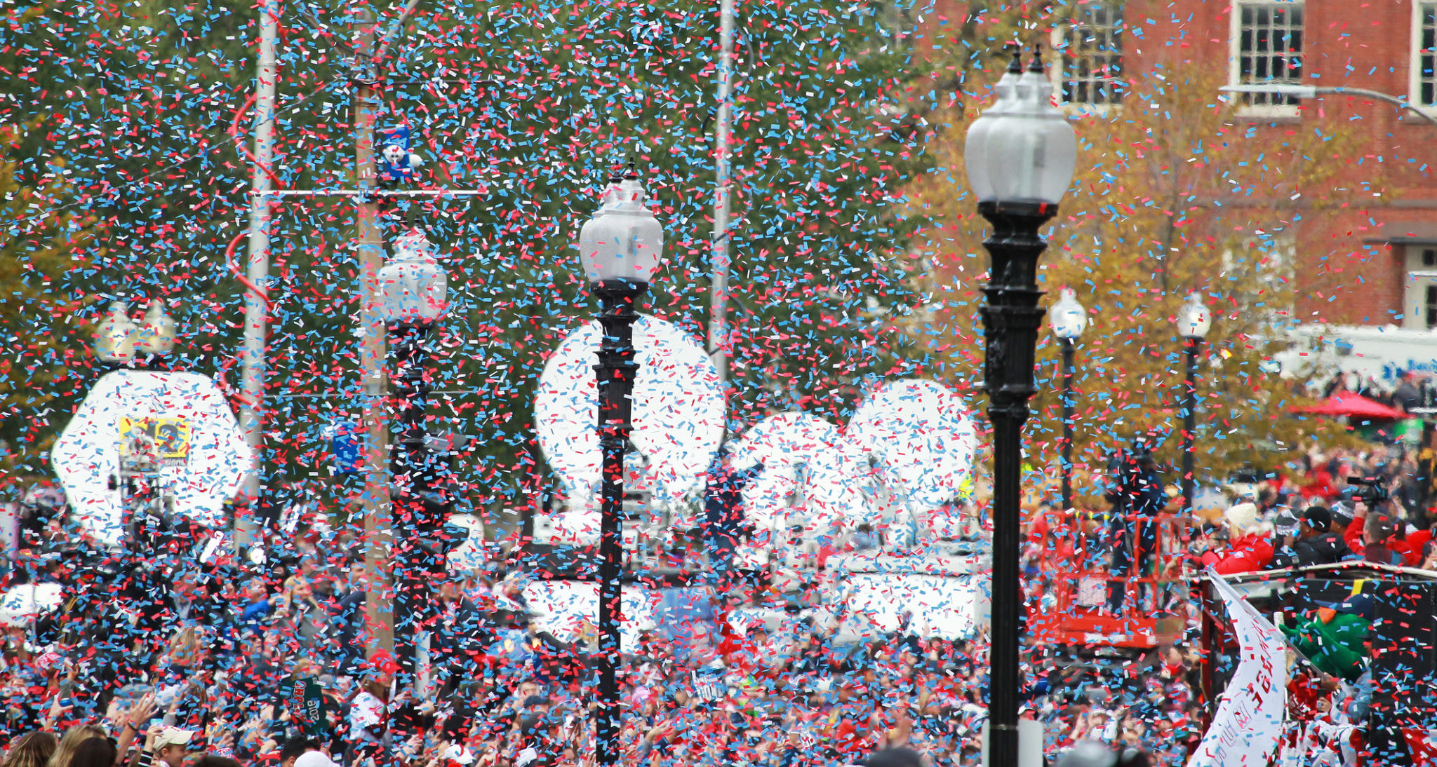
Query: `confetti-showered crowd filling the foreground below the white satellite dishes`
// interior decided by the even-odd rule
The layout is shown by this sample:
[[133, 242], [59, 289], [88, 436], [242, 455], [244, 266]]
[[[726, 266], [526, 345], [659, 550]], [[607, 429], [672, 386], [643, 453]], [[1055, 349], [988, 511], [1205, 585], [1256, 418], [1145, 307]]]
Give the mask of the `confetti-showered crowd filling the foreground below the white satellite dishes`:
[[[856, 539], [848, 547], [861, 547]], [[513, 556], [496, 549], [435, 586], [427, 671], [412, 679], [369, 651], [375, 579], [352, 533], [302, 526], [293, 541], [260, 564], [200, 562], [175, 541], [145, 556], [22, 552], [9, 590], [57, 586], [63, 599], [7, 613], [0, 740], [10, 758], [592, 764], [595, 643], [527, 623]], [[940, 766], [979, 763], [986, 633], [940, 639], [905, 618], [845, 641], [831, 613], [795, 610], [777, 625], [744, 623], [741, 608], [762, 595], [734, 583], [707, 626], [684, 639], [650, 632], [625, 654], [622, 763], [838, 766], [898, 747]], [[815, 587], [806, 583], [790, 587]], [[1023, 715], [1045, 722], [1052, 756], [1096, 734], [1181, 761], [1198, 721], [1188, 651], [1069, 661], [1025, 655]], [[57, 750], [34, 757], [46, 743]]]

